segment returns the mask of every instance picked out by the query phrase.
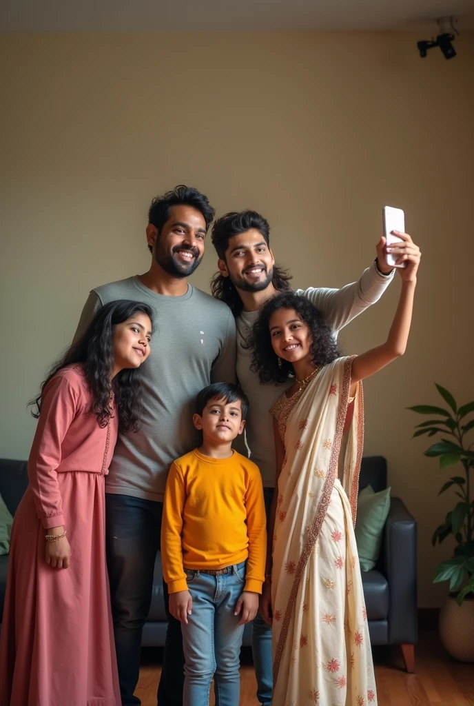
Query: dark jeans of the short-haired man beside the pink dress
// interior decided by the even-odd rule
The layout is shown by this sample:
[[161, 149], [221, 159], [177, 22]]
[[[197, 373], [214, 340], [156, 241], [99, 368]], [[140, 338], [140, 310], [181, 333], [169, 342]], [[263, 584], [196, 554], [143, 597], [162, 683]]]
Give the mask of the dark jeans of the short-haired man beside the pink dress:
[[[122, 704], [140, 705], [133, 695], [140, 671], [142, 628], [152, 601], [154, 562], [162, 527], [162, 503], [106, 493], [106, 547], [115, 647]], [[159, 706], [182, 706], [184, 654], [181, 623], [164, 604], [168, 630], [164, 646]]]

